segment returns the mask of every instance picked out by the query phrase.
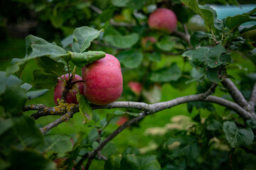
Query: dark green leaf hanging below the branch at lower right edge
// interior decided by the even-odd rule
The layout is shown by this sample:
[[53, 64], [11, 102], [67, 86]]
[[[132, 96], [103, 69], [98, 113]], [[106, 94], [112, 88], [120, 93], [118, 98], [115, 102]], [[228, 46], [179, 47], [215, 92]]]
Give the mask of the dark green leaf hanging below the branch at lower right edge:
[[223, 130], [231, 147], [250, 145], [254, 139], [254, 134], [250, 128], [238, 128], [231, 121], [223, 123]]

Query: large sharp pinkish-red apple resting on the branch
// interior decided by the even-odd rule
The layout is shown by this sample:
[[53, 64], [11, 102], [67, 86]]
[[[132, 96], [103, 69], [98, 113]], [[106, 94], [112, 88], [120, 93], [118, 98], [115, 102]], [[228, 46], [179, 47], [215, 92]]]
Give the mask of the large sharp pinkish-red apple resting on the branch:
[[92, 62], [82, 68], [85, 97], [96, 105], [116, 101], [122, 94], [123, 79], [120, 62], [113, 55]]

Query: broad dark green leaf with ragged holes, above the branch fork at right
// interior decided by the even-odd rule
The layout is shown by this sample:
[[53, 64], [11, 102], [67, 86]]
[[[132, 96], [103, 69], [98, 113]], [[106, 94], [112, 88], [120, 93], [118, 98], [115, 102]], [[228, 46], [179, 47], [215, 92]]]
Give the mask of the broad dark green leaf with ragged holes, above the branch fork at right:
[[193, 52], [191, 60], [193, 64], [198, 67], [210, 67], [215, 68], [223, 64], [220, 60], [220, 55], [226, 52], [225, 47], [223, 45], [216, 45], [213, 48], [210, 47], [199, 47]]

